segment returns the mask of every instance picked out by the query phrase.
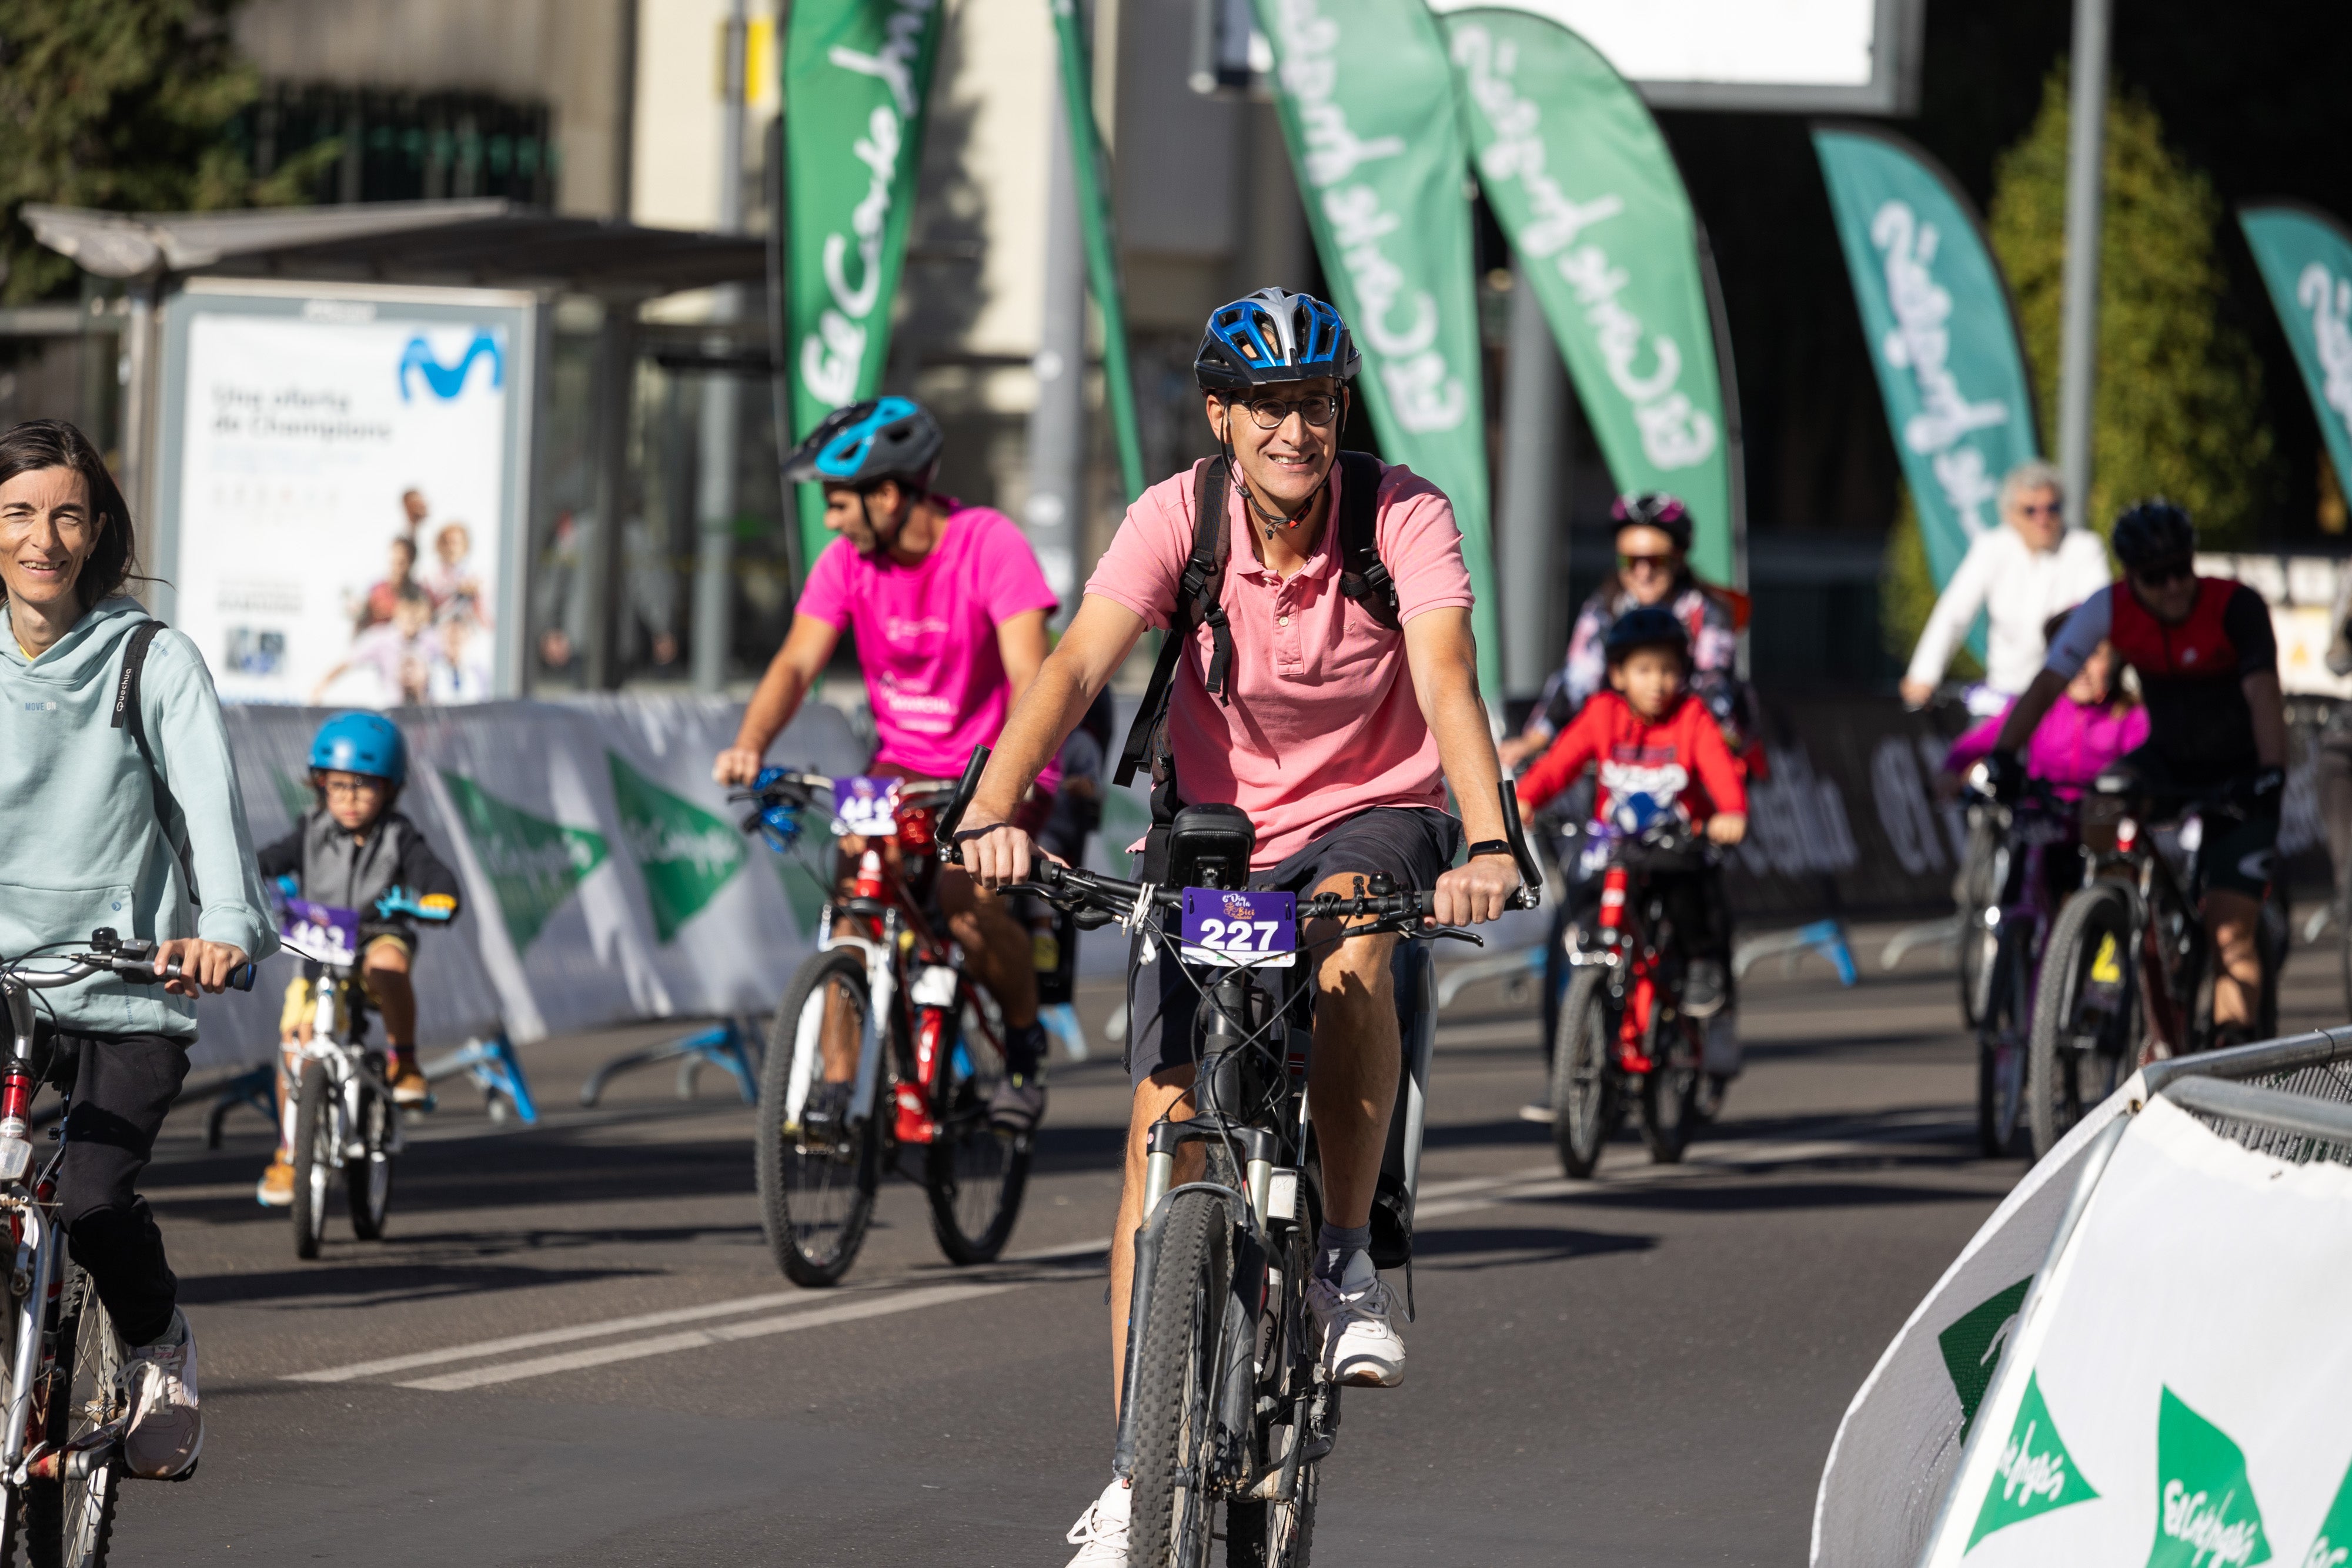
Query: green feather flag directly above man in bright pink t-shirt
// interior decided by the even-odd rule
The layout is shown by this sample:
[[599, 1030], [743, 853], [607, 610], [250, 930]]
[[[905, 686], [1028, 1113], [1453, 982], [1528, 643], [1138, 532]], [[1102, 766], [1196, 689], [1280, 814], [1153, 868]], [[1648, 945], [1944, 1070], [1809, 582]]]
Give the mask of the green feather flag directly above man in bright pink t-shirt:
[[[915, 212], [941, 0], [797, 0], [783, 45], [793, 437], [873, 397]], [[800, 487], [802, 569], [826, 548]]]

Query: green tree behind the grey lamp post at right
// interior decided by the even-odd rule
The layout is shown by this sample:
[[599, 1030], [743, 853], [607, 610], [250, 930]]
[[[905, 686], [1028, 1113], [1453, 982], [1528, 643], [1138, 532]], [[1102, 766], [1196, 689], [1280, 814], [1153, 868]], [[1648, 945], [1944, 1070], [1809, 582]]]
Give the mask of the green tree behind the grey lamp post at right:
[[[2002, 153], [1992, 249], [2018, 299], [2018, 329], [2056, 451], [2058, 317], [2065, 270], [2067, 78], [2051, 71], [2042, 113]], [[2244, 543], [2272, 491], [2272, 435], [2260, 421], [2263, 367], [2223, 317], [2213, 183], [2164, 146], [2145, 99], [2107, 101], [2105, 212], [2098, 252], [2098, 393], [2091, 498], [2103, 531], [2117, 508], [2171, 496], [2211, 543]]]

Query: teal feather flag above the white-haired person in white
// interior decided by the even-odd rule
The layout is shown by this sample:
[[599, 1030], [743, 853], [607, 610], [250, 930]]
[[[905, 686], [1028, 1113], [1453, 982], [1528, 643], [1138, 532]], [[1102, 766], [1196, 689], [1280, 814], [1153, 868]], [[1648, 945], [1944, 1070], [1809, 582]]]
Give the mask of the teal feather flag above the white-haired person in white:
[[2009, 289], [1969, 200], [1926, 153], [1875, 129], [1816, 129], [1813, 150], [1943, 585], [1999, 527], [2002, 475], [2039, 456]]

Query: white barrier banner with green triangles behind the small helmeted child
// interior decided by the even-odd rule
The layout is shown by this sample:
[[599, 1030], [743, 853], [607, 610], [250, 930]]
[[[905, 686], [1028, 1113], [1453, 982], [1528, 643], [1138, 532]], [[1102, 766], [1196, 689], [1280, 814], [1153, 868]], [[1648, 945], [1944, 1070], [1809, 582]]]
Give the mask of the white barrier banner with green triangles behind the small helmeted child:
[[[256, 844], [310, 806], [313, 708], [228, 708]], [[416, 954], [421, 1044], [506, 1027], [517, 1044], [642, 1018], [764, 1011], [814, 945], [830, 835], [779, 856], [710, 783], [741, 705], [715, 698], [583, 698], [405, 710], [405, 811], [456, 870], [463, 914]], [[769, 762], [856, 773], [849, 722], [809, 703]], [[252, 994], [207, 997], [198, 1065], [266, 1060], [296, 959]]]

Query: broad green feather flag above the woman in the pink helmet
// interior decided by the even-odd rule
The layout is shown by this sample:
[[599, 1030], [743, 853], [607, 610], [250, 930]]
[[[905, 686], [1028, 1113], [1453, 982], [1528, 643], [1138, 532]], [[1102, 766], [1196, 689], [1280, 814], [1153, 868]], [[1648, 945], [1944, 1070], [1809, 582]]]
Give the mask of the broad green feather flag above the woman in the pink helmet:
[[1543, 301], [1621, 489], [1691, 508], [1691, 564], [1731, 581], [1731, 458], [1698, 221], [1639, 94], [1592, 45], [1491, 0], [1432, 0], [1479, 183]]

